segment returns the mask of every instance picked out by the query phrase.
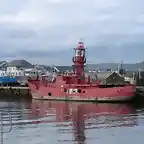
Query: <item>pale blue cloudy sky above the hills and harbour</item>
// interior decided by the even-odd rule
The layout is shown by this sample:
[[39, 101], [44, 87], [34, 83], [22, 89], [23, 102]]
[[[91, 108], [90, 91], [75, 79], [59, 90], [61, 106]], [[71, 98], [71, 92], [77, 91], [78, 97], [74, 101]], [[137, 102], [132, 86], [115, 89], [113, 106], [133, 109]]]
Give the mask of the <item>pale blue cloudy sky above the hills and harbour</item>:
[[143, 61], [143, 0], [0, 0], [0, 60], [70, 65], [79, 40], [87, 63]]

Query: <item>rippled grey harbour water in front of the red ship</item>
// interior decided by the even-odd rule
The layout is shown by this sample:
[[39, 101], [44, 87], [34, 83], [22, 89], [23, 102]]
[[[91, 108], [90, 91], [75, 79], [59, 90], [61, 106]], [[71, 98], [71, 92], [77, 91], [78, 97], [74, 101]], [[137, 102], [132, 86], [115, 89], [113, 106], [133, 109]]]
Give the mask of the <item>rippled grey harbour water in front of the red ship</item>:
[[1, 101], [0, 109], [13, 119], [4, 144], [143, 143], [143, 109], [126, 104]]

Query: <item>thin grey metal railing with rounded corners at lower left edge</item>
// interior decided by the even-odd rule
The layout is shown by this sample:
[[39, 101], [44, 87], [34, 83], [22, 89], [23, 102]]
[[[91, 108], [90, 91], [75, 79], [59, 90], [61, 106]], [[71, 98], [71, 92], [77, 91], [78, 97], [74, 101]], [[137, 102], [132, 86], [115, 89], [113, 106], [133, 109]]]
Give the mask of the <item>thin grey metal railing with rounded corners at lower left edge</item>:
[[[8, 131], [4, 131], [4, 119], [3, 119], [3, 116], [4, 115], [8, 115], [8, 118], [9, 118], [9, 130]], [[0, 123], [0, 133], [1, 133], [1, 144], [3, 144], [3, 134], [4, 133], [10, 133], [11, 130], [12, 130], [12, 117], [11, 117], [11, 114], [8, 113], [8, 112], [0, 112], [0, 117], [1, 117], [1, 123]]]

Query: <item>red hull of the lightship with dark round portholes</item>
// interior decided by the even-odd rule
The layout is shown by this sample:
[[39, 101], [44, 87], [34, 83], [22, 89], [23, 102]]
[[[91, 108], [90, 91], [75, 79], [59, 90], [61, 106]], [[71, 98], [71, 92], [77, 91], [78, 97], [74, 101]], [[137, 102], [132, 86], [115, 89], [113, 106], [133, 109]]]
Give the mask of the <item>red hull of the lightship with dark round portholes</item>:
[[[69, 101], [128, 101], [135, 96], [135, 86], [99, 88], [92, 86], [69, 86], [66, 84], [42, 85], [40, 81], [29, 82], [33, 99], [69, 100]], [[65, 88], [68, 92], [65, 92]], [[72, 90], [79, 90], [73, 92]]]

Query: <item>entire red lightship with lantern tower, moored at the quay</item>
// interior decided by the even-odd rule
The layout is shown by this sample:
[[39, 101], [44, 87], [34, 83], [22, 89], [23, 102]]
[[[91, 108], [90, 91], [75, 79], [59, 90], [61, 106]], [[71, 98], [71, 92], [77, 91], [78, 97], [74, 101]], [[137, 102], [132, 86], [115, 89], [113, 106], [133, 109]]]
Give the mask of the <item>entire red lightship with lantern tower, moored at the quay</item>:
[[74, 49], [74, 73], [65, 75], [42, 76], [41, 80], [29, 80], [29, 87], [34, 99], [70, 100], [70, 101], [127, 101], [134, 97], [136, 87], [125, 84], [124, 78], [114, 73], [110, 79], [118, 77], [117, 84], [101, 84], [96, 79], [91, 81], [85, 74], [85, 47], [83, 42]]

